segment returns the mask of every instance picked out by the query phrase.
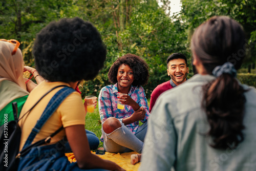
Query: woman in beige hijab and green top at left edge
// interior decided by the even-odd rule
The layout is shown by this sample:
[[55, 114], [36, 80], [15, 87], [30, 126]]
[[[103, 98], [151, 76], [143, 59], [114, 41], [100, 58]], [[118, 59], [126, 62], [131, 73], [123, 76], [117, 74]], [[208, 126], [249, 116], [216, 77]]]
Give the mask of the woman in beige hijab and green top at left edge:
[[0, 40], [0, 125], [4, 124], [5, 114], [8, 114], [8, 121], [14, 120], [12, 110], [14, 101], [17, 102], [19, 115], [29, 92], [36, 86], [33, 81], [26, 81], [23, 78], [24, 69], [33, 73], [37, 83], [43, 80], [35, 69], [28, 66], [24, 68], [19, 45], [20, 43], [14, 39]]

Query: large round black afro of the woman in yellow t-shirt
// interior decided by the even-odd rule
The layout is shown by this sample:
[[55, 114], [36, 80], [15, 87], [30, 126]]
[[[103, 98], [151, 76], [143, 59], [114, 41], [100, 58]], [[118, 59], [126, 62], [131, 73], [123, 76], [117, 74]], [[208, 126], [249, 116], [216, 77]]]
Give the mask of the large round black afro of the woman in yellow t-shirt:
[[106, 48], [97, 29], [81, 18], [51, 22], [37, 35], [35, 67], [49, 81], [93, 79], [103, 67]]

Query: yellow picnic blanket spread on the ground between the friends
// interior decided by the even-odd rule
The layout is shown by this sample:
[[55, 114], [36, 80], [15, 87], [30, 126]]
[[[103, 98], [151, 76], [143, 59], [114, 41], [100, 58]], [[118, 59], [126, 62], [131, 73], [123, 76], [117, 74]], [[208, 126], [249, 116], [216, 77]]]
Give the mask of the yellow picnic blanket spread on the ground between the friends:
[[[95, 152], [92, 152], [95, 154]], [[102, 159], [110, 160], [115, 163], [117, 163], [119, 166], [121, 166], [126, 171], [137, 171], [139, 169], [140, 163], [137, 163], [135, 165], [131, 164], [131, 155], [132, 154], [138, 154], [136, 152], [130, 152], [130, 153], [108, 153], [105, 152], [104, 155], [97, 155]], [[76, 158], [74, 156], [74, 153], [66, 153], [66, 156], [68, 157], [69, 161], [76, 162]]]

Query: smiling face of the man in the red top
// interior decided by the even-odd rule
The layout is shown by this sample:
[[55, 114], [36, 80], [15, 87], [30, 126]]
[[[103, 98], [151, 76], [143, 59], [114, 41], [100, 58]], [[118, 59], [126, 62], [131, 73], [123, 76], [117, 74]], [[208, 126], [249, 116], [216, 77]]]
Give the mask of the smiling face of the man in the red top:
[[167, 74], [172, 78], [176, 86], [186, 81], [187, 73], [188, 67], [184, 59], [173, 59], [169, 61]]

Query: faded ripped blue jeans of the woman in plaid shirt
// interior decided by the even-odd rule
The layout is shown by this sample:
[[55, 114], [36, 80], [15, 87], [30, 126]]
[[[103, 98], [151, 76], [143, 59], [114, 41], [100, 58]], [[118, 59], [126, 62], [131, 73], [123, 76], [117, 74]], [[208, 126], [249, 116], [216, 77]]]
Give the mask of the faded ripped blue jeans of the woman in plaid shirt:
[[133, 134], [123, 123], [121, 127], [110, 134], [106, 134], [101, 128], [103, 135], [103, 147], [106, 152], [126, 153], [135, 151], [141, 153], [144, 138], [147, 131], [147, 122], [139, 126], [136, 134]]

